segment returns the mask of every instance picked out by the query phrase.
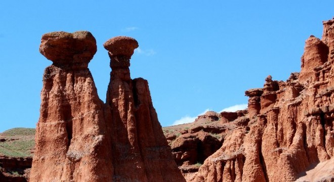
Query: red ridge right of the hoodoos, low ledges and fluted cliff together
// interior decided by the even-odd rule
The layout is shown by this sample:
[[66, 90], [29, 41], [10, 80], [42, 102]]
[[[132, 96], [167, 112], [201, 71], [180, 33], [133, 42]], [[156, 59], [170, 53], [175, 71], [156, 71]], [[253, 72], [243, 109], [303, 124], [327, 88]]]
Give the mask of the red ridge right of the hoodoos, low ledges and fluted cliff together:
[[[269, 75], [263, 88], [246, 90], [247, 110], [163, 128], [187, 181], [334, 181], [334, 19], [323, 25], [321, 40], [306, 40], [301, 72], [285, 82]], [[194, 152], [207, 135], [220, 149]]]

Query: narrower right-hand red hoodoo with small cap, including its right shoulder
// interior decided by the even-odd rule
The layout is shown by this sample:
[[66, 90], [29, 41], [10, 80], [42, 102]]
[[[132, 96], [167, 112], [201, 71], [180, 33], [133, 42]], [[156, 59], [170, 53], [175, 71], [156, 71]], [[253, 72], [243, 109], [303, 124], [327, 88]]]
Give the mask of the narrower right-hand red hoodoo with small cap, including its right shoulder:
[[111, 133], [114, 181], [185, 181], [153, 108], [148, 82], [130, 77], [138, 42], [118, 36], [104, 43], [110, 57], [106, 122]]

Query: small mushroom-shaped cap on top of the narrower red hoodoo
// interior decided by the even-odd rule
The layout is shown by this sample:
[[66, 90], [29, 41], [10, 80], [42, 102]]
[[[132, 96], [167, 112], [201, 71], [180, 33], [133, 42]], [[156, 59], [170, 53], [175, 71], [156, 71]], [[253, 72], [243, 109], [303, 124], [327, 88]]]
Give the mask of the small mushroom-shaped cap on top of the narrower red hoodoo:
[[111, 57], [125, 56], [131, 58], [134, 50], [138, 48], [136, 39], [127, 36], [116, 36], [110, 38], [103, 44], [104, 48], [108, 50]]

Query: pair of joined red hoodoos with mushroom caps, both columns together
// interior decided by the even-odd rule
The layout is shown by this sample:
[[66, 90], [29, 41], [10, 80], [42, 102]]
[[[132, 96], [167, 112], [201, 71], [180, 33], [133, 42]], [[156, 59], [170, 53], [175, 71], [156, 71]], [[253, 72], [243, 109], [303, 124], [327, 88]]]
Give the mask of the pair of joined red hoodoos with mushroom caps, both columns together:
[[45, 69], [30, 181], [185, 181], [153, 108], [147, 80], [131, 79], [138, 42], [114, 37], [104, 104], [88, 64], [97, 51], [90, 32], [52, 32], [39, 51]]

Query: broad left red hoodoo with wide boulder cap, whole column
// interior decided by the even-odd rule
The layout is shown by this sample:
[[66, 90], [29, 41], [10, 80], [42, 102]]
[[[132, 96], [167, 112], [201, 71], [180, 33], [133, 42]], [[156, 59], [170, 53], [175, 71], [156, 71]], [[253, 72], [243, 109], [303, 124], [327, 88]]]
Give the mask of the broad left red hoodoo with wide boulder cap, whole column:
[[96, 53], [90, 32], [52, 32], [39, 51], [45, 69], [30, 181], [110, 181], [103, 102], [88, 63]]

